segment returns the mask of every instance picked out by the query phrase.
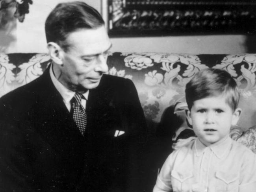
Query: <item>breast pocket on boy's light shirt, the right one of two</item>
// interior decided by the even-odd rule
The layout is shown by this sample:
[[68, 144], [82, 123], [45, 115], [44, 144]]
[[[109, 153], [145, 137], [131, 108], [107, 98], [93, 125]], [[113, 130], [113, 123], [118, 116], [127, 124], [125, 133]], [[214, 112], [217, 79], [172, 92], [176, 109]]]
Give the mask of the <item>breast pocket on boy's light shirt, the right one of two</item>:
[[230, 172], [216, 172], [216, 190], [218, 192], [238, 192], [239, 175]]

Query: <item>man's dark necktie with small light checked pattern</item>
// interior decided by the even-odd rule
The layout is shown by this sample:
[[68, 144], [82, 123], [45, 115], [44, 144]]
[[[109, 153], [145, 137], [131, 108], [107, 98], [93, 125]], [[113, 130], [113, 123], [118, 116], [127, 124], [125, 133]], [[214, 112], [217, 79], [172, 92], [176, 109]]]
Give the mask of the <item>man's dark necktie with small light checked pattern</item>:
[[71, 113], [78, 129], [81, 131], [82, 135], [84, 135], [87, 124], [87, 115], [85, 109], [81, 105], [82, 98], [84, 98], [83, 95], [79, 92], [76, 92], [75, 96], [71, 100]]

